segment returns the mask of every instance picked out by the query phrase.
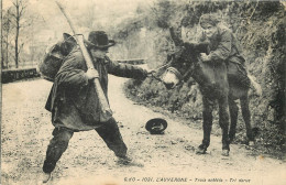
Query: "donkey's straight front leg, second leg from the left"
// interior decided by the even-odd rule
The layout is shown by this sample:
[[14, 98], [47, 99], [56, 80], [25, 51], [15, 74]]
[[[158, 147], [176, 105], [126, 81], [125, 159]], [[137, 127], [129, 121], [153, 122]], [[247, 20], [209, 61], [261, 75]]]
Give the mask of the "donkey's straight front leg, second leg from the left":
[[222, 155], [228, 156], [230, 151], [229, 140], [229, 102], [228, 96], [223, 96], [219, 99], [219, 124], [222, 130]]

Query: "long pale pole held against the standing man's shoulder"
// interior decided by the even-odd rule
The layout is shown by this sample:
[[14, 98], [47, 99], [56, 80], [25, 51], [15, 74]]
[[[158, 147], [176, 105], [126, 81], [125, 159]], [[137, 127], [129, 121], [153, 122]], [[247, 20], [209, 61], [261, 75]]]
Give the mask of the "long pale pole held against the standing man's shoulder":
[[[67, 11], [65, 11], [64, 7], [58, 2], [56, 1], [59, 10], [63, 12], [63, 14], [65, 15], [74, 35], [76, 35], [76, 41], [79, 45], [79, 48], [84, 55], [84, 58], [86, 61], [86, 64], [87, 64], [87, 67], [89, 69], [96, 69], [95, 66], [94, 66], [94, 63], [91, 61], [91, 57], [85, 46], [85, 43], [84, 43], [84, 37], [78, 35], [78, 32], [77, 32], [77, 29], [76, 26], [74, 25], [73, 21], [72, 21], [72, 18], [70, 15], [68, 14]], [[97, 96], [98, 96], [98, 99], [99, 99], [99, 104], [100, 104], [100, 108], [101, 108], [101, 117], [100, 117], [100, 121], [108, 121], [111, 116], [112, 116], [112, 111], [109, 107], [109, 104], [107, 101], [107, 97], [106, 95], [103, 94], [103, 90], [100, 86], [100, 83], [99, 83], [99, 79], [98, 78], [95, 78], [94, 79], [94, 83], [95, 83], [95, 86], [96, 86], [96, 91], [97, 91]]]

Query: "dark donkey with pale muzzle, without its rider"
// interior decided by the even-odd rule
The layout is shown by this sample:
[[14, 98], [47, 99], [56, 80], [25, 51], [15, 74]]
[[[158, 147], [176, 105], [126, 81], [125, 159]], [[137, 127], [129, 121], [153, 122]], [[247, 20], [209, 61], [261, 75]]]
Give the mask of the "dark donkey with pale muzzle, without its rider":
[[[230, 142], [235, 137], [239, 108], [234, 100], [240, 99], [241, 111], [246, 126], [250, 144], [254, 143], [254, 130], [251, 127], [249, 89], [242, 83], [227, 75], [226, 63], [201, 62], [199, 54], [207, 53], [208, 43], [184, 43], [179, 54], [170, 55], [168, 68], [162, 76], [166, 88], [174, 88], [183, 79], [193, 77], [198, 83], [202, 95], [204, 139], [196, 153], [205, 154], [210, 144], [213, 104], [219, 105], [219, 124], [222, 129], [222, 155], [228, 156]], [[229, 117], [231, 126], [229, 129]]]

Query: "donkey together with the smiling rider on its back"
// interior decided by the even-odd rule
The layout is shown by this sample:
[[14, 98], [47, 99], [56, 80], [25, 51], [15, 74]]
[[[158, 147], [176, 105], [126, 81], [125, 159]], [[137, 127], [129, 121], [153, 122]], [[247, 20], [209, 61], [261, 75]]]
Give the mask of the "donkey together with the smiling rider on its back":
[[200, 26], [204, 32], [199, 43], [183, 42], [180, 33], [175, 34], [174, 29], [170, 28], [170, 36], [177, 50], [170, 55], [169, 69], [166, 70], [173, 73], [166, 73], [168, 75], [163, 76], [163, 81], [166, 87], [174, 87], [178, 80], [191, 76], [199, 84], [204, 105], [204, 140], [196, 151], [198, 154], [206, 153], [210, 144], [213, 102], [218, 100], [219, 124], [222, 129], [222, 155], [229, 155], [229, 144], [234, 139], [238, 120], [235, 100], [241, 101], [246, 135], [250, 144], [253, 144], [257, 128], [251, 126], [248, 91], [249, 88], [253, 88], [257, 95], [261, 95], [261, 87], [248, 74], [245, 59], [234, 34], [220, 24], [218, 17], [201, 15]]

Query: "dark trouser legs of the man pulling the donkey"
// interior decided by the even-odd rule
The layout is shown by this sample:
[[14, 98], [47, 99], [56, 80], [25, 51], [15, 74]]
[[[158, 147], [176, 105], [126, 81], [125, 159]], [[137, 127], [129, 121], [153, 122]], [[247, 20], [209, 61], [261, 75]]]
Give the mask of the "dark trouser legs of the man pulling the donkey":
[[[125, 156], [127, 145], [124, 144], [120, 134], [118, 124], [113, 118], [106, 122], [96, 131], [107, 143], [108, 148], [112, 150], [117, 156]], [[56, 166], [56, 162], [61, 159], [62, 154], [66, 151], [68, 142], [72, 139], [74, 131], [66, 128], [55, 128], [53, 131], [54, 138], [50, 141], [46, 151], [46, 159], [43, 165], [45, 173], [51, 173]]]

